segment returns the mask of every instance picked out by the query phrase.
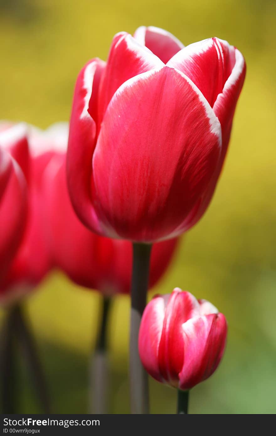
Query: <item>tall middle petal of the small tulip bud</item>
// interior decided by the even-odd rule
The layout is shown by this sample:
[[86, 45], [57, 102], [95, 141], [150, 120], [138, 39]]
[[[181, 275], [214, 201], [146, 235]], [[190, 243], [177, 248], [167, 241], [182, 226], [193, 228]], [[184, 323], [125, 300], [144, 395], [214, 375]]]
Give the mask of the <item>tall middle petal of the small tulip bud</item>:
[[177, 387], [178, 374], [183, 367], [182, 324], [197, 316], [199, 310], [198, 300], [191, 293], [175, 288], [170, 294], [158, 349], [159, 371], [170, 385]]

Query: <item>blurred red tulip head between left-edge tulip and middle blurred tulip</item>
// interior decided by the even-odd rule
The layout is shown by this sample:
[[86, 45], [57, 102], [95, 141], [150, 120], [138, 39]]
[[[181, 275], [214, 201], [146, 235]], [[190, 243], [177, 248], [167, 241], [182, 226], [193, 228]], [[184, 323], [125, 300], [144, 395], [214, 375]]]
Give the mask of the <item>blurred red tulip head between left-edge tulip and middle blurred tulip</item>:
[[[28, 126], [26, 143], [29, 146], [29, 164], [19, 159], [17, 153], [17, 162], [27, 172], [28, 218], [20, 247], [0, 283], [2, 303], [14, 301], [33, 290], [52, 267], [41, 183], [51, 158], [61, 150], [63, 153], [66, 150], [67, 141], [60, 139], [60, 130], [63, 130], [63, 126], [54, 125], [45, 132]], [[15, 154], [15, 151], [12, 150], [12, 153]]]

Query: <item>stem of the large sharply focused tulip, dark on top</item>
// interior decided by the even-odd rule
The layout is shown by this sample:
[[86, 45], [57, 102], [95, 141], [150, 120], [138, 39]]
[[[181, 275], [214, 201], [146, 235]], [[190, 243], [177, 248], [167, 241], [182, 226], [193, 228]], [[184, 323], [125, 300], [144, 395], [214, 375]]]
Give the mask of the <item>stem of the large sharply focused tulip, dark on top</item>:
[[147, 303], [151, 245], [133, 244], [131, 285], [129, 375], [131, 413], [149, 413], [148, 376], [140, 361], [138, 335], [143, 310]]

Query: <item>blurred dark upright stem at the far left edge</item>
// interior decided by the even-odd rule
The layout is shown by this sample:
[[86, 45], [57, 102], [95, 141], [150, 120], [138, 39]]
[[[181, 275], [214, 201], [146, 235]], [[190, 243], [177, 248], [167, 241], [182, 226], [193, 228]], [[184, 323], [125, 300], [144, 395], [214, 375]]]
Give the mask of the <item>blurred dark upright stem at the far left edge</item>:
[[0, 371], [2, 413], [19, 413], [17, 410], [18, 387], [16, 385], [15, 326], [16, 311], [8, 309], [3, 320], [0, 337]]

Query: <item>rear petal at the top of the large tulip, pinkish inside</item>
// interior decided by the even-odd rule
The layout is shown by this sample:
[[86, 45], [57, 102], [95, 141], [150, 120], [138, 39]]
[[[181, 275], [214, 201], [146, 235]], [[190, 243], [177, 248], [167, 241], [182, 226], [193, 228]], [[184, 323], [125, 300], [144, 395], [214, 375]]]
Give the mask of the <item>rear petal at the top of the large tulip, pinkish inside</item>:
[[138, 27], [133, 36], [140, 44], [145, 45], [156, 54], [165, 64], [174, 54], [184, 48], [182, 42], [173, 34], [159, 27]]

